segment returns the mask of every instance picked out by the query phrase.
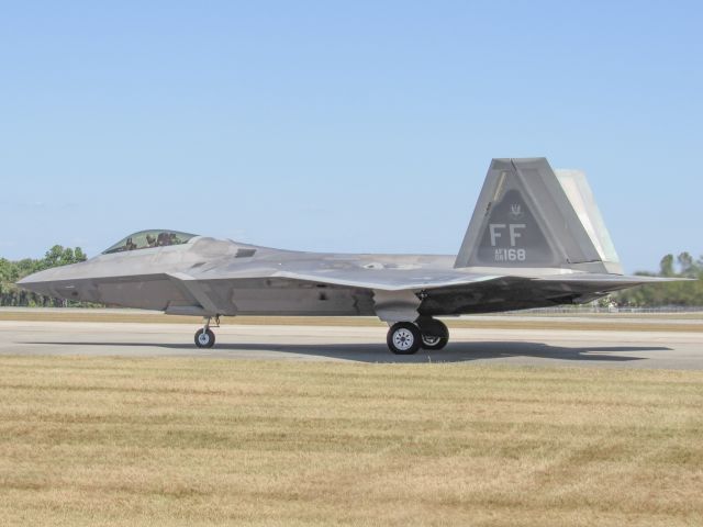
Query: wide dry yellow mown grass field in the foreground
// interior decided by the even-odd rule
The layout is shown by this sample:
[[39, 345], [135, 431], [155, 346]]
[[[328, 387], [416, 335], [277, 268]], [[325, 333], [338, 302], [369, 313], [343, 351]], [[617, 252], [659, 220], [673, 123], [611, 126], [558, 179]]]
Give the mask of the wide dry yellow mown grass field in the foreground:
[[0, 525], [701, 525], [703, 372], [0, 358]]

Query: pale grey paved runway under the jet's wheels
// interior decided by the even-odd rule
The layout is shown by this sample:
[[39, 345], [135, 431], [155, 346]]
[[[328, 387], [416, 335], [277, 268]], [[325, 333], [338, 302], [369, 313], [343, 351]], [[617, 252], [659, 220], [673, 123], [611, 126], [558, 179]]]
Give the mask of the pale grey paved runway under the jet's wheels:
[[703, 370], [703, 333], [632, 329], [454, 328], [449, 345], [392, 355], [383, 327], [228, 325], [211, 349], [193, 345], [197, 326], [0, 321], [0, 355], [202, 357], [350, 362], [466, 362]]

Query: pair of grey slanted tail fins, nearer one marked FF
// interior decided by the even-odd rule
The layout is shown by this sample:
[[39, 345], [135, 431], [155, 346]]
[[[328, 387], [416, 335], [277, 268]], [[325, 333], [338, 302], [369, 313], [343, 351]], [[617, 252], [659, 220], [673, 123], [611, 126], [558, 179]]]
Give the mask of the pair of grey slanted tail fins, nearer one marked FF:
[[491, 161], [455, 267], [622, 274], [585, 176], [544, 157]]

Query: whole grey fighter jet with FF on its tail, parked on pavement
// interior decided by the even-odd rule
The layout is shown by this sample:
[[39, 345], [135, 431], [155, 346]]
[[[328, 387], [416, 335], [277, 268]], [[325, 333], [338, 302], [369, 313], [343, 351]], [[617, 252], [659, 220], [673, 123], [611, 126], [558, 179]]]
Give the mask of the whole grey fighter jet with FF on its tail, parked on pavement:
[[493, 159], [456, 256], [280, 250], [142, 231], [85, 262], [19, 285], [47, 296], [203, 316], [378, 316], [394, 354], [438, 350], [438, 316], [591, 302], [666, 279], [624, 276], [585, 176], [545, 158]]

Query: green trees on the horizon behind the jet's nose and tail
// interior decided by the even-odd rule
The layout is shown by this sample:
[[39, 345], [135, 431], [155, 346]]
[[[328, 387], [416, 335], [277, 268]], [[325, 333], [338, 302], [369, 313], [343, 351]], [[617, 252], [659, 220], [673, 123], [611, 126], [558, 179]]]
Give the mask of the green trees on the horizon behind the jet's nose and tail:
[[[77, 264], [87, 259], [80, 247], [55, 245], [46, 251], [44, 258], [11, 261], [0, 258], [0, 305], [2, 306], [91, 306], [85, 302], [57, 300], [25, 291], [15, 282], [33, 272], [52, 267]], [[666, 255], [659, 262], [658, 272], [637, 272], [639, 276], [667, 278], [694, 278], [692, 282], [657, 283], [618, 291], [610, 295], [610, 301], [620, 306], [659, 307], [659, 306], [703, 306], [703, 256], [694, 259], [689, 253], [678, 257]]]

